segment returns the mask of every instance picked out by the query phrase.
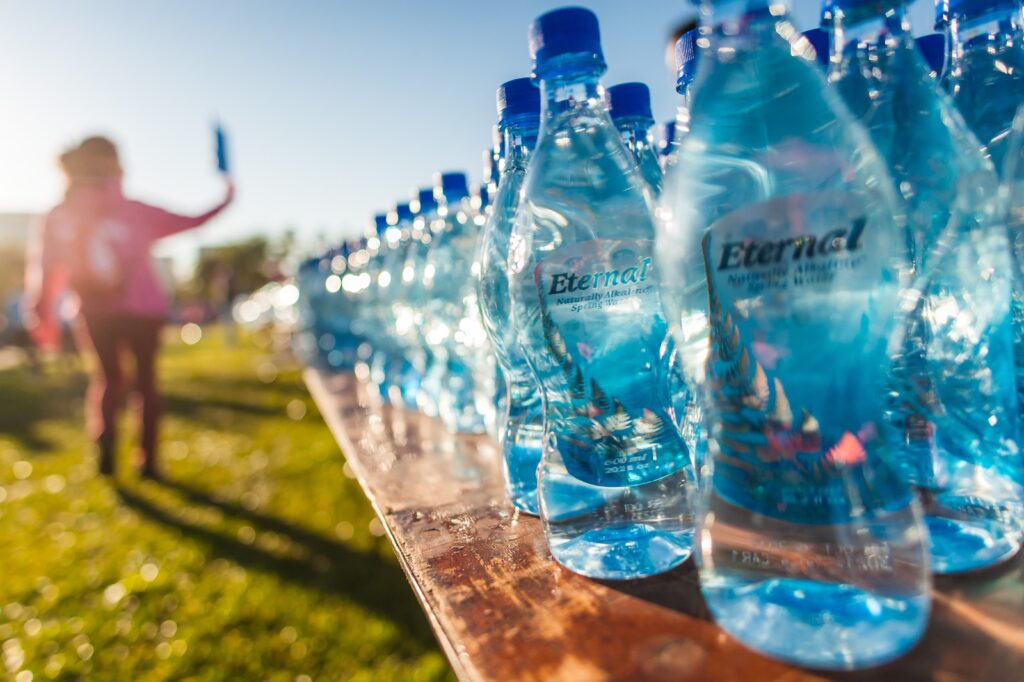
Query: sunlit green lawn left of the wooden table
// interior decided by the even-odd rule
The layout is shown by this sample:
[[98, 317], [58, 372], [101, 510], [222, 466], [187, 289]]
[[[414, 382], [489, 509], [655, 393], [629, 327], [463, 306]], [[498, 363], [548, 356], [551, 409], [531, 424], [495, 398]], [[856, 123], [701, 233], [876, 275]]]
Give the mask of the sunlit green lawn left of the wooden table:
[[161, 376], [167, 481], [128, 417], [112, 481], [80, 368], [0, 372], [0, 678], [451, 678], [294, 363], [208, 330]]

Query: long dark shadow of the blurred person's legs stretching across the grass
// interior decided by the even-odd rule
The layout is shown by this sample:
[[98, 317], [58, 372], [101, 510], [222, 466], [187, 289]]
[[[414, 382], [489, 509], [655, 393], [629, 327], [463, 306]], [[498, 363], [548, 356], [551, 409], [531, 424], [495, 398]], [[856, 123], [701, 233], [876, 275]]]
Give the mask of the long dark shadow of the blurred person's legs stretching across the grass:
[[285, 556], [244, 543], [226, 530], [185, 520], [176, 505], [164, 504], [139, 489], [117, 486], [118, 497], [130, 509], [153, 521], [174, 528], [209, 548], [211, 557], [228, 559], [253, 570], [325, 593], [337, 594], [393, 623], [406, 635], [411, 652], [436, 648], [437, 643], [417, 603], [409, 598], [409, 584], [401, 569], [373, 552], [359, 552], [280, 518], [217, 500], [176, 481], [161, 481], [187, 501], [218, 509], [269, 530], [302, 550], [302, 557]]

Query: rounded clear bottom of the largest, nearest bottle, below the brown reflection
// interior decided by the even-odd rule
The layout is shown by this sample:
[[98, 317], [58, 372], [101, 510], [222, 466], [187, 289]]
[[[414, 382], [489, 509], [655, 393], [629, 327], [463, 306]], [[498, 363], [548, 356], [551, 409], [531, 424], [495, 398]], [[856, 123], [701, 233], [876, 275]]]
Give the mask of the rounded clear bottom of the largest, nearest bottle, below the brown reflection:
[[811, 668], [852, 670], [905, 653], [928, 625], [929, 597], [884, 596], [852, 585], [799, 579], [702, 576], [718, 625], [765, 655]]

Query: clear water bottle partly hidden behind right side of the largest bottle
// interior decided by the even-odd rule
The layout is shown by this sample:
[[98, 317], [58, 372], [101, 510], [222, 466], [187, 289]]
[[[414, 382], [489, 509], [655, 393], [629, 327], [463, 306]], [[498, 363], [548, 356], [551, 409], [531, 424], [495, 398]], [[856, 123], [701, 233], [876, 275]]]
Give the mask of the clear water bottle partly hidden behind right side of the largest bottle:
[[1017, 553], [1024, 512], [998, 179], [930, 77], [904, 1], [835, 4], [830, 79], [889, 167], [920, 295], [894, 365], [897, 461], [924, 503], [932, 569], [981, 568]]

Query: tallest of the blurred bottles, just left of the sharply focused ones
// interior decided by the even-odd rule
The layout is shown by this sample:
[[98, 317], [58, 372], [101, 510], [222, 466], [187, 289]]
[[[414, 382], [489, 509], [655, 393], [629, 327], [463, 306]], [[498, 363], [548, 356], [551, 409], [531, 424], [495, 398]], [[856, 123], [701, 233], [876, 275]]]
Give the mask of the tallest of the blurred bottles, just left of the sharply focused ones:
[[479, 318], [474, 270], [479, 225], [469, 206], [464, 173], [438, 173], [434, 180], [438, 220], [427, 253], [426, 341], [443, 359], [444, 383], [438, 406], [452, 431], [482, 433], [493, 410], [490, 356]]

